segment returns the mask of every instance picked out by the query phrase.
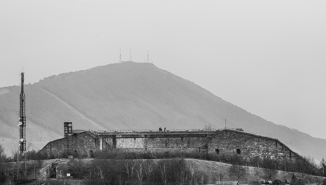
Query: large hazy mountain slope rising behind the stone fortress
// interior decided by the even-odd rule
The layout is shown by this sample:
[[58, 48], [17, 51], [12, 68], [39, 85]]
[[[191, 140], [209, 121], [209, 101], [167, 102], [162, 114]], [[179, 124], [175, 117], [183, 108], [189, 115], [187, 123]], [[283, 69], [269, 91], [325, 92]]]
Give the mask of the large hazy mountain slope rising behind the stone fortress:
[[[27, 76], [28, 73], [25, 74]], [[20, 86], [0, 88], [0, 144], [18, 141]], [[326, 156], [326, 139], [276, 125], [151, 63], [123, 62], [52, 75], [25, 85], [26, 140], [42, 148], [73, 129], [243, 128], [277, 138], [301, 155]], [[15, 142], [14, 142], [15, 141]]]

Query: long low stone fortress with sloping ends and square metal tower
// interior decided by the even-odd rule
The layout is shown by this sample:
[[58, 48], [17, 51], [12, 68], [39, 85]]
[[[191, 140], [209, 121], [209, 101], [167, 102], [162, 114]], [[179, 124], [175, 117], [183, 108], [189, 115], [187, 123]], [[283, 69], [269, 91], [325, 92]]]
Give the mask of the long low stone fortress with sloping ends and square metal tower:
[[242, 157], [302, 158], [278, 139], [245, 132], [239, 128], [158, 130], [72, 130], [65, 123], [65, 137], [50, 141], [40, 152], [59, 156], [69, 152], [92, 156], [96, 150], [120, 148], [208, 152]]

